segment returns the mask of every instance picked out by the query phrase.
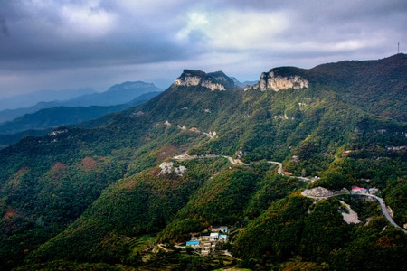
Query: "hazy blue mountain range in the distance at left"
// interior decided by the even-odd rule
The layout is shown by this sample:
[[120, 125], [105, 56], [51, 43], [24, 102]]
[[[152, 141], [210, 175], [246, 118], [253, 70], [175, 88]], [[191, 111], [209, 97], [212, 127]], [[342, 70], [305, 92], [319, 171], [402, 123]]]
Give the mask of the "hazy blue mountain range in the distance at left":
[[80, 95], [65, 101], [40, 102], [33, 107], [0, 112], [0, 146], [27, 135], [45, 135], [57, 126], [69, 126], [136, 106], [162, 89], [142, 81], [124, 82], [102, 93]]

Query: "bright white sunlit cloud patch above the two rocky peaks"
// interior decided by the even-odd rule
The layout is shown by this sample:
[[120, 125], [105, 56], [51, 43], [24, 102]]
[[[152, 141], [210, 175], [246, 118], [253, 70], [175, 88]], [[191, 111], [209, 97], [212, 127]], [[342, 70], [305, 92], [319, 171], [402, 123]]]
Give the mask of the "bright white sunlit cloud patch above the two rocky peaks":
[[265, 49], [272, 47], [277, 34], [288, 29], [288, 17], [283, 13], [194, 12], [187, 14], [186, 25], [176, 37], [196, 42], [194, 34], [201, 33], [214, 49]]

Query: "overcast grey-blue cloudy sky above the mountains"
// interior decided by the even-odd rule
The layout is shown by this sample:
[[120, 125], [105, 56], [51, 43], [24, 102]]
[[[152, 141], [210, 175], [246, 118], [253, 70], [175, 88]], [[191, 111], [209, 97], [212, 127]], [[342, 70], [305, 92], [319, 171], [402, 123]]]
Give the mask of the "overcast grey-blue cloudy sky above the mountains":
[[0, 98], [407, 51], [405, 0], [0, 0]]

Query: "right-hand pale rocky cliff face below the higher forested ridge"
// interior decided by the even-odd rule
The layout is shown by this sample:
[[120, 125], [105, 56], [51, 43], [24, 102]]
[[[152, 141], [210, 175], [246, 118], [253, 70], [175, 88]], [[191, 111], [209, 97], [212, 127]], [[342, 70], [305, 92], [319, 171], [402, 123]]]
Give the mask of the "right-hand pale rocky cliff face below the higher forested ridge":
[[303, 89], [308, 88], [308, 80], [298, 75], [280, 76], [273, 70], [261, 73], [259, 83], [247, 86], [244, 90], [260, 89], [261, 91], [281, 89]]

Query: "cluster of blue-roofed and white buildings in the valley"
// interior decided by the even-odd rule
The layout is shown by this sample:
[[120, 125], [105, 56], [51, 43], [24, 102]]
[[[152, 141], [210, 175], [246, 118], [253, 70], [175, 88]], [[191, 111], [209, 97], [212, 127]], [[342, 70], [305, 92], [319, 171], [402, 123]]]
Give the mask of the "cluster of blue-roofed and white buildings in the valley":
[[215, 250], [216, 244], [227, 241], [228, 227], [213, 226], [209, 231], [193, 235], [191, 240], [186, 242], [186, 246], [191, 246], [194, 250], [200, 250], [203, 256], [208, 256]]

